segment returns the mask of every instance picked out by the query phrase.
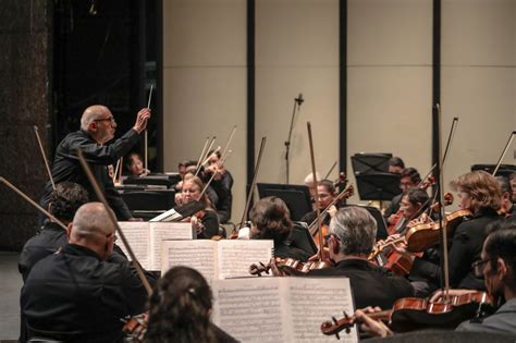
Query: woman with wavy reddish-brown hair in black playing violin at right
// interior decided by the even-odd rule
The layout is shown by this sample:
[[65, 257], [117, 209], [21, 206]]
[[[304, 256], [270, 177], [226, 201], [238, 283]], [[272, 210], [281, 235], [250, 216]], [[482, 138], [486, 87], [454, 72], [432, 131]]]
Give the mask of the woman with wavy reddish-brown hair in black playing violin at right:
[[[469, 266], [480, 258], [488, 225], [500, 220], [501, 189], [496, 179], [484, 171], [474, 171], [452, 182], [457, 192], [458, 207], [470, 210], [472, 219], [455, 230], [450, 247], [450, 284], [452, 287], [483, 290], [481, 279], [475, 277]], [[435, 290], [441, 281], [441, 267], [428, 260], [414, 260], [411, 277], [425, 278]], [[429, 290], [430, 290], [429, 289]]]

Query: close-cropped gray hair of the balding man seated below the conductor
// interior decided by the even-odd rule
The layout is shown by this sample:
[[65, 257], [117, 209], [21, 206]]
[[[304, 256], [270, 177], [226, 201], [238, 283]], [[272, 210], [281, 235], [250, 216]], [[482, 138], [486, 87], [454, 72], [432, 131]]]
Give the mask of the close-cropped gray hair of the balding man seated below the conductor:
[[74, 237], [95, 241], [97, 236], [110, 233], [114, 233], [114, 226], [103, 204], [88, 203], [78, 208], [73, 218]]

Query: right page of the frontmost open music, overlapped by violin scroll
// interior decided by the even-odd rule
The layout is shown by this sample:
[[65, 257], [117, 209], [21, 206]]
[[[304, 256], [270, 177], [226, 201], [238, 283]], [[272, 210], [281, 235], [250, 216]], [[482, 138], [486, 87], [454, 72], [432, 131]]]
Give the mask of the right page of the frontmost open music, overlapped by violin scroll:
[[[335, 342], [335, 336], [323, 335], [321, 323], [331, 316], [340, 318], [343, 311], [352, 316], [353, 298], [347, 278], [297, 278], [285, 284], [283, 297], [287, 298], [295, 342]], [[303, 316], [299, 316], [303, 314]], [[340, 334], [340, 342], [357, 342], [355, 328], [349, 334]]]

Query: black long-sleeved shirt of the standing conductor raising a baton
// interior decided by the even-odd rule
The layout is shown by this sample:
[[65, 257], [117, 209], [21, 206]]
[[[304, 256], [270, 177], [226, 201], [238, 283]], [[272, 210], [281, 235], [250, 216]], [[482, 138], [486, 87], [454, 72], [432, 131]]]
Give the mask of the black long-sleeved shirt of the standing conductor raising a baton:
[[[139, 134], [135, 130], [130, 130], [110, 145], [99, 145], [88, 133], [81, 130], [67, 134], [56, 149], [52, 179], [56, 184], [64, 181], [78, 183], [88, 191], [91, 200], [97, 199], [88, 177], [78, 161], [77, 149], [81, 148], [116, 218], [119, 220], [127, 220], [132, 217], [131, 212], [114, 187], [113, 181], [108, 175], [108, 166], [116, 163], [116, 160], [126, 155], [138, 139]], [[41, 198], [41, 204], [45, 208], [51, 192], [52, 185], [48, 182]]]

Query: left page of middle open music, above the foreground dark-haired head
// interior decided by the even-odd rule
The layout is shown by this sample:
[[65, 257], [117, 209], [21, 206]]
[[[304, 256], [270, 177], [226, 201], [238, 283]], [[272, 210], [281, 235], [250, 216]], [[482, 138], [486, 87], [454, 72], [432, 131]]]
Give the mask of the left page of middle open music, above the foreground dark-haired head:
[[209, 284], [217, 279], [216, 241], [162, 241], [161, 249], [161, 275], [172, 267], [186, 266], [200, 272]]

